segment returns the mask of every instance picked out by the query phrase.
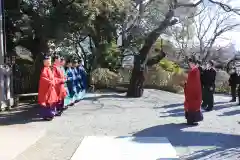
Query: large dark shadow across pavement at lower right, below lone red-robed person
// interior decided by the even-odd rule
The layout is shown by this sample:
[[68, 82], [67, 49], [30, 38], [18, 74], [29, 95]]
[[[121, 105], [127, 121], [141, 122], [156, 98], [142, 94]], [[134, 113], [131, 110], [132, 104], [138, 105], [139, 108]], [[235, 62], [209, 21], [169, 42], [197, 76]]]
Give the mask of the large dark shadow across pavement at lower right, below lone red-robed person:
[[[212, 146], [221, 150], [240, 147], [239, 135], [182, 130], [188, 127], [186, 124], [153, 126], [134, 133], [133, 136], [137, 137], [134, 141], [138, 143], [149, 143], [148, 141], [138, 141], [139, 137], [166, 137], [174, 147]], [[202, 154], [205, 152], [207, 152], [207, 150], [203, 151]], [[214, 152], [216, 151], [212, 153]]]

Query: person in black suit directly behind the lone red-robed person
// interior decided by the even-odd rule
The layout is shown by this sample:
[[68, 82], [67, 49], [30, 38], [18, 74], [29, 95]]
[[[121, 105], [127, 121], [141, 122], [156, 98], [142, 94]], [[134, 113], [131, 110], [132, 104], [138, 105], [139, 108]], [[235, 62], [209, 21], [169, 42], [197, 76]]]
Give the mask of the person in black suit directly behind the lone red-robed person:
[[216, 70], [213, 68], [213, 61], [207, 63], [206, 69], [203, 71], [202, 88], [203, 88], [203, 102], [202, 108], [206, 111], [211, 111], [214, 104], [214, 91]]

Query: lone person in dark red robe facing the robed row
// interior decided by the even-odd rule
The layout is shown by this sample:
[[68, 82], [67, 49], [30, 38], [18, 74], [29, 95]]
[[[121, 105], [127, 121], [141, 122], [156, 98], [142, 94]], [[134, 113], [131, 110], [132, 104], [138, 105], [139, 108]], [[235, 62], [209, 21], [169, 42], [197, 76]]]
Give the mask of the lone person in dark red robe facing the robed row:
[[188, 72], [187, 82], [184, 87], [185, 102], [185, 118], [189, 125], [197, 125], [197, 122], [203, 120], [201, 112], [202, 103], [202, 87], [200, 71], [194, 59], [188, 60], [190, 71]]

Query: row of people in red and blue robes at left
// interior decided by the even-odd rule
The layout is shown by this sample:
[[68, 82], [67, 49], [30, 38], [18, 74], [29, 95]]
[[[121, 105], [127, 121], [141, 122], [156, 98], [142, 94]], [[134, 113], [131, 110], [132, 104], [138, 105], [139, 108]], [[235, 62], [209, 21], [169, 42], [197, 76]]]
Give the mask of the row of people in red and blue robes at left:
[[83, 98], [86, 87], [87, 73], [81, 60], [45, 55], [38, 90], [41, 117], [52, 120], [61, 116], [64, 110]]

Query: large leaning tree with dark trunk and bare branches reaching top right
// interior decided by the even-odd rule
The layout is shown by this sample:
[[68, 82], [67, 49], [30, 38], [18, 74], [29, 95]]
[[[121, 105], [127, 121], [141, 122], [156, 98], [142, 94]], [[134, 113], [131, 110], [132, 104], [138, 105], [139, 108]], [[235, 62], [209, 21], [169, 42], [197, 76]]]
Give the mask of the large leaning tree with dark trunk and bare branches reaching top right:
[[[182, 1], [182, 0], [181, 0]], [[134, 67], [132, 70], [132, 76], [128, 87], [127, 96], [129, 97], [140, 97], [143, 93], [144, 83], [144, 70], [142, 69], [147, 63], [147, 56], [152, 45], [156, 42], [158, 37], [166, 31], [167, 28], [175, 25], [178, 20], [175, 18], [175, 11], [180, 7], [197, 7], [201, 5], [205, 0], [199, 0], [196, 3], [181, 3], [180, 0], [169, 0], [168, 11], [165, 13], [163, 20], [159, 25], [151, 31], [144, 39], [144, 44], [139, 50], [139, 55], [135, 60]], [[214, 0], [208, 0], [212, 4], [219, 5], [225, 12], [234, 12], [239, 14], [238, 9], [234, 9], [229, 5]], [[164, 57], [164, 54], [157, 55], [154, 62], [159, 62]]]

